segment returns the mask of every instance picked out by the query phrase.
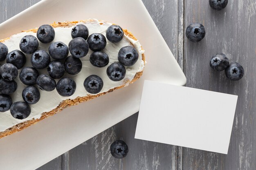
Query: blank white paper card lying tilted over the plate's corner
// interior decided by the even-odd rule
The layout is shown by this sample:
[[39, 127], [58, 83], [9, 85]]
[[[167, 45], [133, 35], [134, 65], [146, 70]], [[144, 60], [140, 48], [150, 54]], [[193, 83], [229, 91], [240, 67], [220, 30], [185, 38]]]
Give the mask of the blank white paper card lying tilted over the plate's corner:
[[135, 138], [227, 154], [237, 98], [145, 80]]

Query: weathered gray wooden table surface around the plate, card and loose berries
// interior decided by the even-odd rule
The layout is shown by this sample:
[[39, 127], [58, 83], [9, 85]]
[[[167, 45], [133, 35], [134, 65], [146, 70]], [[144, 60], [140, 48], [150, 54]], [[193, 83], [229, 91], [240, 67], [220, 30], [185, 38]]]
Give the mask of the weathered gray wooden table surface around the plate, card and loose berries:
[[[0, 0], [0, 22], [38, 1]], [[186, 86], [238, 95], [228, 155], [134, 139], [136, 113], [38, 170], [256, 170], [256, 1], [229, 0], [222, 11], [212, 10], [208, 0], [143, 2], [183, 69]], [[184, 37], [192, 22], [207, 31], [199, 43]], [[243, 79], [232, 82], [210, 68], [211, 56], [219, 52], [243, 65]], [[211, 109], [218, 111], [221, 104], [216, 101]], [[117, 139], [129, 146], [125, 159], [110, 155]]]

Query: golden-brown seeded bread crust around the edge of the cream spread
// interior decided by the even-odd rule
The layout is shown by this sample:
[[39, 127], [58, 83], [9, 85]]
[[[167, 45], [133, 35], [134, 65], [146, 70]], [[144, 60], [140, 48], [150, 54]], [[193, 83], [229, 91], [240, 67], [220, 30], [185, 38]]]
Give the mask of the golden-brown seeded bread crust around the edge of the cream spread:
[[[51, 24], [54, 28], [56, 27], [72, 27], [74, 26], [75, 24], [77, 24], [78, 22], [92, 22], [93, 20], [80, 20], [80, 21], [72, 21], [72, 22], [54, 22], [53, 24]], [[101, 20], [99, 20], [101, 22]], [[103, 24], [103, 21], [100, 23], [100, 24]], [[26, 31], [22, 31], [22, 32], [34, 32], [36, 33], [38, 29], [29, 29], [29, 30], [26, 30]], [[137, 40], [135, 38], [134, 35], [132, 35], [131, 32], [127, 31], [126, 29], [123, 29], [124, 33], [129, 37], [129, 38], [132, 38], [133, 40]], [[3, 40], [0, 40], [0, 42], [4, 42], [6, 40], [9, 40], [9, 38], [5, 38]], [[142, 60], [144, 61], [144, 65], [146, 64], [145, 62], [145, 55], [142, 54]], [[42, 113], [42, 116], [40, 117], [40, 119], [30, 119], [30, 120], [27, 120], [27, 121], [24, 121], [22, 123], [19, 123], [19, 124], [16, 124], [14, 126], [12, 126], [11, 128], [8, 128], [7, 130], [3, 131], [3, 132], [0, 132], [0, 138], [2, 137], [5, 137], [7, 135], [11, 135], [15, 132], [18, 132], [20, 130], [23, 130], [29, 126], [31, 126], [32, 124], [36, 124], [38, 121], [40, 120], [43, 120], [49, 116], [52, 116], [56, 113], [58, 113], [59, 111], [63, 110], [64, 108], [66, 107], [69, 107], [69, 106], [74, 106], [76, 104], [79, 104], [79, 103], [82, 103], [82, 102], [86, 102], [86, 101], [89, 101], [89, 100], [92, 100], [96, 97], [99, 97], [101, 95], [105, 95], [109, 92], [112, 92], [116, 89], [119, 89], [119, 88], [122, 88], [124, 86], [126, 86], [127, 83], [131, 84], [133, 82], [135, 82], [137, 79], [139, 79], [139, 77], [141, 77], [143, 71], [140, 71], [140, 72], [137, 72], [134, 76], [134, 78], [130, 81], [130, 82], [124, 82], [123, 85], [121, 86], [117, 86], [115, 88], [112, 88], [110, 89], [109, 91], [107, 92], [103, 92], [103, 93], [99, 93], [97, 95], [87, 95], [87, 96], [84, 96], [84, 97], [76, 97], [75, 99], [66, 99], [66, 100], [63, 100], [56, 108], [54, 108], [53, 110], [49, 111], [49, 112], [45, 112], [45, 113]]]

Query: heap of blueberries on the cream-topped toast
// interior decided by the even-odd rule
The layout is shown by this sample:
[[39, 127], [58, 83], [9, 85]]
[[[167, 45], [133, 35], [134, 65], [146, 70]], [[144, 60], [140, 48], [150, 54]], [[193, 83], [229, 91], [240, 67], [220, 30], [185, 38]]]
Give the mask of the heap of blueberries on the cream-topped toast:
[[[0, 43], [0, 61], [6, 60], [6, 64], [0, 66], [0, 112], [10, 110], [11, 115], [16, 119], [25, 119], [31, 113], [29, 104], [36, 104], [40, 99], [40, 92], [35, 84], [44, 91], [53, 91], [55, 88], [61, 96], [71, 96], [76, 90], [76, 82], [63, 77], [67, 72], [70, 75], [78, 74], [82, 69], [81, 57], [88, 54], [89, 49], [94, 51], [90, 55], [90, 63], [95, 67], [105, 67], [109, 63], [108, 54], [101, 52], [106, 47], [106, 38], [101, 33], [92, 33], [89, 36], [88, 28], [79, 24], [72, 28], [72, 40], [68, 46], [63, 42], [52, 42], [55, 38], [54, 28], [50, 25], [42, 25], [38, 28], [37, 38], [33, 35], [26, 35], [20, 40], [20, 50], [8, 53], [5, 44]], [[107, 39], [112, 43], [120, 42], [124, 37], [123, 29], [118, 25], [109, 26], [106, 31]], [[38, 49], [38, 40], [42, 43], [50, 43], [49, 54]], [[70, 56], [67, 56], [68, 53]], [[25, 54], [31, 54], [33, 67], [24, 67], [26, 63]], [[51, 57], [54, 61], [51, 62]], [[138, 60], [138, 53], [133, 46], [124, 46], [118, 53], [119, 62], [110, 64], [107, 68], [107, 75], [112, 81], [120, 81], [126, 75], [125, 66], [132, 66]], [[64, 63], [63, 63], [64, 61]], [[47, 68], [48, 75], [39, 74], [37, 69]], [[25, 102], [12, 103], [9, 96], [17, 89], [14, 79], [20, 71], [20, 81], [27, 85], [22, 91], [22, 98]], [[63, 78], [61, 78], [63, 77]], [[58, 83], [54, 79], [60, 79]], [[88, 93], [96, 94], [103, 88], [103, 81], [97, 75], [88, 76], [83, 86]]]

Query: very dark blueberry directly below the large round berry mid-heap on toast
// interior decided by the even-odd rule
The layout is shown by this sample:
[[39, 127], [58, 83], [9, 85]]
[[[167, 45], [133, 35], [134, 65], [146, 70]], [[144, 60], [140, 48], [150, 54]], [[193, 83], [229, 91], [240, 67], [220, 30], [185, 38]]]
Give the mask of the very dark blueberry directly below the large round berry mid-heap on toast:
[[71, 75], [78, 74], [82, 70], [82, 62], [79, 58], [68, 56], [64, 62], [65, 71]]

